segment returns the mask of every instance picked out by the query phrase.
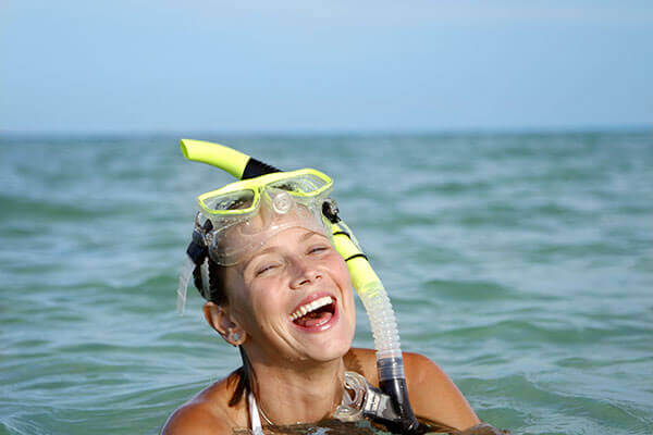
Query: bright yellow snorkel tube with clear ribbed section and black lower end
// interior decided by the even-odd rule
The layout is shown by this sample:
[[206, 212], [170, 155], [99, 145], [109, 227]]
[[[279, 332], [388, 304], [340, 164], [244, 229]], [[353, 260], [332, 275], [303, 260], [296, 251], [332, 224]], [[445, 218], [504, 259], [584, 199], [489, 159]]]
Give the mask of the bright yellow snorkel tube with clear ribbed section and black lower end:
[[[220, 167], [238, 179], [282, 172], [218, 144], [182, 139], [181, 148], [186, 159]], [[410, 408], [399, 334], [387, 293], [352, 231], [338, 217], [335, 201], [325, 201], [322, 213], [331, 223], [333, 244], [347, 263], [352, 284], [365, 306], [374, 335], [381, 391], [373, 387], [368, 390], [362, 414], [384, 424], [393, 433], [422, 434], [427, 427], [417, 421]]]

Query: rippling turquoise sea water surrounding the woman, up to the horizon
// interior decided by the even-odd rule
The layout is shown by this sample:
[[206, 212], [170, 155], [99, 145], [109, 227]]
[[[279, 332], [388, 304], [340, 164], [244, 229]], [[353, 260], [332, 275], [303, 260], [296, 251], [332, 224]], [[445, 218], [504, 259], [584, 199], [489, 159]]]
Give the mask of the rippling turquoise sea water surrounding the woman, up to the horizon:
[[[653, 133], [202, 136], [336, 181], [404, 350], [517, 434], [653, 433]], [[177, 137], [0, 138], [0, 434], [153, 434], [238, 364], [175, 313]], [[356, 345], [372, 346], [359, 307]]]

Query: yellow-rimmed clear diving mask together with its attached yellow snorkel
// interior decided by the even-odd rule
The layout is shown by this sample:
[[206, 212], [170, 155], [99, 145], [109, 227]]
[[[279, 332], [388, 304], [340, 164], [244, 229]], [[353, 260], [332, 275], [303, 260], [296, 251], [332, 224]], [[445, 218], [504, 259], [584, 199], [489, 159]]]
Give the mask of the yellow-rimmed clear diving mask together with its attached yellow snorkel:
[[381, 387], [355, 383], [361, 391], [360, 400], [354, 400], [352, 409], [338, 409], [340, 413], [362, 415], [393, 433], [426, 433], [428, 427], [417, 421], [408, 401], [392, 304], [352, 231], [340, 219], [335, 202], [328, 198], [333, 186], [331, 178], [308, 169], [281, 172], [229, 147], [199, 140], [182, 139], [182, 152], [188, 160], [220, 167], [242, 181], [198, 197], [199, 213], [186, 251], [188, 259], [180, 275], [177, 309], [183, 312], [196, 266], [201, 268], [205, 284], [200, 291], [207, 296], [207, 257], [232, 265], [284, 228], [301, 226], [324, 233], [347, 263], [352, 284], [368, 312]]

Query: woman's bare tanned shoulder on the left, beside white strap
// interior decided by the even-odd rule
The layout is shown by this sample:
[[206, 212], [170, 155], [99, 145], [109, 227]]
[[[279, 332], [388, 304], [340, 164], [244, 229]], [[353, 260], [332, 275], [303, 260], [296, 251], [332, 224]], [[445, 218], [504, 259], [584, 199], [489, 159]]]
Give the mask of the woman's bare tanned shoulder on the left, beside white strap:
[[246, 425], [245, 400], [230, 407], [237, 383], [236, 372], [215, 382], [178, 407], [165, 422], [162, 435], [205, 435], [232, 433], [233, 427]]

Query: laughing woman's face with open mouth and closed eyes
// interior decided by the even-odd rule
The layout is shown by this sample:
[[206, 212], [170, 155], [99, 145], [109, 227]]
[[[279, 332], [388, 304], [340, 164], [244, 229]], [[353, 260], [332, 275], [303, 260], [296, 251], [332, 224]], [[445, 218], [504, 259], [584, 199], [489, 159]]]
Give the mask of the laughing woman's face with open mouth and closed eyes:
[[229, 309], [247, 333], [251, 360], [330, 361], [349, 349], [352, 283], [324, 234], [286, 228], [225, 273]]

